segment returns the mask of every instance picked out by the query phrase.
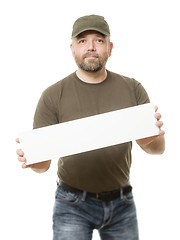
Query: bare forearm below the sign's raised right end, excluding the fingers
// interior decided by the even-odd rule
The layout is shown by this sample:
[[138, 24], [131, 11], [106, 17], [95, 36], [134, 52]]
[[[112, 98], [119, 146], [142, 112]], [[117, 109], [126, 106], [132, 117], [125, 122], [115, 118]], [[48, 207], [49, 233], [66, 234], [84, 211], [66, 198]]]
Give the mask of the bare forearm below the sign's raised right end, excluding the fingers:
[[157, 136], [152, 142], [147, 144], [141, 144], [137, 141], [139, 146], [149, 154], [163, 154], [165, 151], [165, 139], [164, 136]]

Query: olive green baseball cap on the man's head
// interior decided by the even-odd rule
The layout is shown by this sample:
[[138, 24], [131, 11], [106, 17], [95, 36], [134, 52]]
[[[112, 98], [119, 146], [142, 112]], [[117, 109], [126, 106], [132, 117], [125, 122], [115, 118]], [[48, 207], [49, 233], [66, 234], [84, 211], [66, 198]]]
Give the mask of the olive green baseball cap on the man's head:
[[88, 15], [78, 18], [73, 25], [72, 38], [87, 30], [95, 30], [106, 36], [110, 35], [107, 22], [104, 17], [99, 15]]

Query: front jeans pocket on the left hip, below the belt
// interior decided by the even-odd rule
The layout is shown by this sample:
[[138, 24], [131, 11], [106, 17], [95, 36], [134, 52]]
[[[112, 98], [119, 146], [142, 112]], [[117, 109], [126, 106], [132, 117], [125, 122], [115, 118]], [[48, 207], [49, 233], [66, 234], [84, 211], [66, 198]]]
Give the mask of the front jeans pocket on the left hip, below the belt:
[[61, 203], [75, 205], [80, 202], [81, 196], [81, 194], [66, 191], [62, 187], [58, 186], [55, 194], [55, 199]]

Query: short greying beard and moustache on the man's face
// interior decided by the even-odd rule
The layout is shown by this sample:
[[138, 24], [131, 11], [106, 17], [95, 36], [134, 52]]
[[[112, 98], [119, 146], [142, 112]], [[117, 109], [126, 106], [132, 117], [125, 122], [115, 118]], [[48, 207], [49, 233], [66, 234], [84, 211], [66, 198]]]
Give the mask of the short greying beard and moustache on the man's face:
[[[93, 56], [95, 59], [88, 59], [87, 57]], [[84, 54], [81, 58], [75, 55], [75, 61], [79, 68], [86, 72], [98, 72], [103, 69], [108, 60], [108, 54], [101, 57], [99, 54], [89, 52]]]

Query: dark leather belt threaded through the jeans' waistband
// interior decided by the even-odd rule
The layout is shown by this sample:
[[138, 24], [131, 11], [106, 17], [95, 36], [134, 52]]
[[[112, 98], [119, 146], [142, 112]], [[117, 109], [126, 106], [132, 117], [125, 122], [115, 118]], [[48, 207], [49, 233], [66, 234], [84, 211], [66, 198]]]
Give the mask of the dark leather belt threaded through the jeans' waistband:
[[[83, 193], [84, 192], [83, 190], [71, 187], [71, 186], [67, 185], [64, 182], [60, 182], [59, 186], [62, 187], [63, 190], [69, 191], [69, 192], [72, 192], [72, 193], [79, 194], [79, 193]], [[114, 190], [114, 191], [110, 191], [110, 192], [100, 192], [100, 193], [90, 193], [90, 192], [87, 192], [86, 193], [86, 197], [95, 198], [98, 201], [112, 201], [112, 200], [114, 200], [114, 199], [116, 199], [118, 197], [121, 197], [122, 194], [126, 195], [129, 192], [131, 192], [131, 191], [132, 191], [132, 186], [131, 185], [127, 185], [127, 186], [125, 186], [123, 188], [120, 188], [120, 189]]]

